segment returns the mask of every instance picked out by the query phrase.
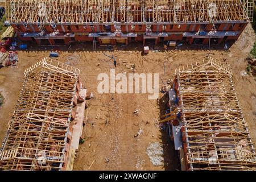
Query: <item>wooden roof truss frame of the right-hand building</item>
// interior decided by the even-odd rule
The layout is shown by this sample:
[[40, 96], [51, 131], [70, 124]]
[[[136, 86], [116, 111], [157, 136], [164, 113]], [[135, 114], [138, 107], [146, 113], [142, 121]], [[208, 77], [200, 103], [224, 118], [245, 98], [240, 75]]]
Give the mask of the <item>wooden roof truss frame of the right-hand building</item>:
[[209, 57], [176, 71], [189, 170], [252, 170], [256, 158], [232, 71]]

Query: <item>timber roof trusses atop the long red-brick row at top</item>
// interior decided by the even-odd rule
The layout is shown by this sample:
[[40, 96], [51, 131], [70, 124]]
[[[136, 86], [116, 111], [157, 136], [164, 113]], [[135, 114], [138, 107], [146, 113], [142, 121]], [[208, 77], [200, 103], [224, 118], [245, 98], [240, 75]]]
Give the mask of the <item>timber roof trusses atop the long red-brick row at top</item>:
[[12, 24], [134, 24], [249, 22], [247, 0], [10, 0]]

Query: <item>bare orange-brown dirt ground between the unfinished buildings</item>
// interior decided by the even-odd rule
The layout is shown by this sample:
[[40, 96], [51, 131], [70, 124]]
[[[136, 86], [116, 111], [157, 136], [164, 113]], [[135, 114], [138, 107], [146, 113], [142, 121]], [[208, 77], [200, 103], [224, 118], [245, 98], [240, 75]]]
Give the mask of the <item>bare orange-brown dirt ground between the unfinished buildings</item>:
[[[245, 119], [249, 125], [251, 139], [256, 143], [256, 82], [252, 76], [244, 76], [246, 70], [245, 57], [249, 54], [254, 43], [254, 31], [251, 25], [246, 27], [236, 44], [224, 50], [209, 51], [198, 47], [183, 46], [179, 50], [163, 51], [163, 46], [150, 46], [155, 50], [143, 55], [141, 44], [129, 47], [116, 46], [114, 51], [107, 47], [98, 47], [92, 51], [90, 44], [76, 44], [62, 47], [58, 61], [80, 68], [83, 84], [92, 92], [94, 97], [88, 100], [88, 121], [84, 127], [85, 142], [80, 145], [74, 165], [76, 170], [175, 170], [178, 168], [174, 146], [167, 140], [165, 131], [155, 126], [159, 118], [159, 108], [156, 100], [148, 100], [147, 94], [99, 94], [97, 92], [97, 76], [99, 73], [110, 74], [114, 68], [113, 62], [104, 55], [117, 59], [115, 73], [127, 72], [123, 61], [135, 64], [136, 73], [159, 73], [159, 84], [168, 78], [174, 78], [174, 70], [192, 61], [201, 60], [209, 55], [229, 65], [234, 73], [234, 83], [238, 99]], [[19, 51], [17, 67], [0, 69], [0, 91], [5, 97], [5, 104], [0, 111], [0, 142], [7, 130], [8, 121], [13, 114], [16, 100], [22, 87], [24, 70], [49, 56], [51, 48], [32, 46], [29, 51]], [[165, 68], [165, 72], [164, 72]], [[161, 94], [159, 94], [159, 97]], [[139, 114], [133, 114], [139, 110]], [[96, 119], [96, 115], [100, 118]], [[107, 121], [107, 122], [106, 122]], [[139, 130], [142, 134], [134, 138]], [[152, 142], [163, 143], [164, 164], [153, 166], [146, 154], [146, 149]], [[255, 147], [255, 145], [254, 145]]]

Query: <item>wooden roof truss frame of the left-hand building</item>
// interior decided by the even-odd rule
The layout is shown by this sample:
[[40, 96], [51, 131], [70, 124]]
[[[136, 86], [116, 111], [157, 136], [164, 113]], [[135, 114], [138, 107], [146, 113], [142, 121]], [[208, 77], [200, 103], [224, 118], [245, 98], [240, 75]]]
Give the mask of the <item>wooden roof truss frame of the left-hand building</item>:
[[79, 72], [48, 58], [26, 69], [0, 150], [0, 169], [63, 167]]

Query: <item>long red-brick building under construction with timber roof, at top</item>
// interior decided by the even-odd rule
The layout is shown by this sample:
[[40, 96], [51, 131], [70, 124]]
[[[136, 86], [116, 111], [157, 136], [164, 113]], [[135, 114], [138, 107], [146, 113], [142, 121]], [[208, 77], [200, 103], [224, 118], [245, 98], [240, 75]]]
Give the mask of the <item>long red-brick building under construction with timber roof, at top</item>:
[[7, 23], [20, 40], [129, 44], [236, 40], [253, 19], [247, 0], [10, 0]]

